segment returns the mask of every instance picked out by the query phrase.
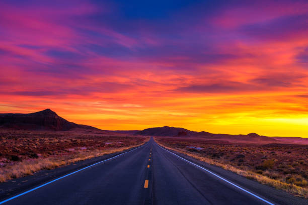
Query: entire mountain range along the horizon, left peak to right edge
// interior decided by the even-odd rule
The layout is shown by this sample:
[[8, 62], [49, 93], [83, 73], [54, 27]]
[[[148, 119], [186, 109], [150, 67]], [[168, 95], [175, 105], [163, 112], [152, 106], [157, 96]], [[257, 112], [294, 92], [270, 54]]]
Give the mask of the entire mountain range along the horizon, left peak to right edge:
[[213, 134], [209, 132], [196, 132], [184, 128], [175, 127], [157, 127], [147, 128], [142, 131], [138, 130], [117, 130], [107, 131], [100, 130], [88, 125], [79, 125], [69, 122], [50, 109], [46, 109], [37, 113], [30, 114], [0, 114], [0, 129], [14, 130], [53, 130], [53, 131], [69, 131], [69, 130], [88, 130], [102, 131], [109, 133], [119, 133], [126, 135], [143, 135], [143, 136], [161, 136], [161, 137], [181, 137], [181, 138], [203, 138], [211, 140], [227, 140], [233, 142], [264, 142], [264, 143], [295, 143], [308, 144], [308, 138], [300, 137], [266, 137], [256, 133], [248, 135], [229, 135], [229, 134]]

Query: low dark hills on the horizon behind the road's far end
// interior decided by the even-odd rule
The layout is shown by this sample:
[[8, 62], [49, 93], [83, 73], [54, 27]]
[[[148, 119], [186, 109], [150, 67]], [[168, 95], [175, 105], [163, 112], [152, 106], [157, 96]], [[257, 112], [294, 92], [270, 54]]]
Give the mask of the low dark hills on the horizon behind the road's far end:
[[230, 140], [230, 141], [250, 141], [250, 142], [279, 142], [276, 139], [260, 136], [256, 133], [250, 133], [248, 135], [228, 135], [228, 134], [213, 134], [209, 132], [195, 132], [184, 128], [175, 127], [158, 127], [147, 128], [145, 130], [135, 133], [136, 135], [144, 136], [163, 136], [163, 137], [194, 137], [214, 140]]

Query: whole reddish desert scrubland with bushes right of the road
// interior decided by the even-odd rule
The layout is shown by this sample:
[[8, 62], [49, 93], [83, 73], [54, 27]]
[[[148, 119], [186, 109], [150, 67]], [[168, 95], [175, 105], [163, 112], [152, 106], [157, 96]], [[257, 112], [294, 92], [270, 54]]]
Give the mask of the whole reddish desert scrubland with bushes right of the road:
[[245, 144], [166, 137], [155, 139], [166, 148], [308, 198], [308, 145]]

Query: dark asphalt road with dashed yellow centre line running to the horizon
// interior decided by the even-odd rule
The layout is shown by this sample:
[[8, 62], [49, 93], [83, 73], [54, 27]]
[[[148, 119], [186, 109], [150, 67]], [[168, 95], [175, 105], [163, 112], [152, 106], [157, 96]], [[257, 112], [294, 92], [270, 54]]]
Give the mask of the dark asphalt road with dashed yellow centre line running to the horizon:
[[[254, 205], [305, 204], [307, 201], [287, 194], [284, 199], [284, 192], [243, 177], [235, 179], [241, 185], [228, 179], [232, 174], [223, 173], [220, 168], [213, 168], [216, 169], [213, 172], [208, 169], [210, 165], [187, 159], [160, 147], [151, 139], [139, 148], [64, 175], [41, 187], [32, 187], [35, 190], [25, 190], [29, 192], [21, 192], [21, 195], [2, 200], [0, 204]], [[256, 192], [258, 190], [261, 193]]]

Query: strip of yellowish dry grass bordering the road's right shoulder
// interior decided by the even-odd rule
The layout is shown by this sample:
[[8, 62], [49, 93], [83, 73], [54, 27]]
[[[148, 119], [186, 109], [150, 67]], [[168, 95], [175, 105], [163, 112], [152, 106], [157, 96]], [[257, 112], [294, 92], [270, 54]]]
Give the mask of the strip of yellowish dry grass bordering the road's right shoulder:
[[[234, 162], [230, 161], [229, 163], [224, 158], [220, 157], [206, 157], [202, 154], [202, 152], [198, 152], [199, 150], [189, 148], [185, 146], [185, 148], [181, 146], [177, 146], [177, 143], [168, 143], [168, 140], [163, 140], [162, 138], [155, 139], [158, 144], [163, 147], [166, 147], [171, 150], [175, 150], [177, 152], [186, 154], [188, 156], [194, 157], [198, 160], [204, 161], [206, 163], [219, 166], [223, 169], [233, 171], [241, 176], [244, 176], [249, 179], [254, 179], [262, 184], [273, 186], [277, 189], [281, 189], [287, 191], [293, 195], [301, 196], [304, 198], [308, 198], [308, 187], [307, 181], [304, 177], [296, 174], [297, 177], [292, 175], [281, 176], [278, 172], [272, 172], [271, 170], [257, 170], [255, 171], [253, 168], [249, 166], [240, 165], [239, 167], [234, 166]], [[169, 140], [172, 141], [172, 140]], [[187, 143], [187, 142], [186, 142]], [[191, 146], [191, 144], [189, 145]], [[214, 145], [211, 144], [211, 147]], [[181, 147], [181, 148], [179, 148]], [[196, 145], [197, 147], [197, 145]], [[245, 148], [247, 149], [247, 148]], [[264, 154], [264, 153], [263, 153]], [[238, 155], [239, 156], [239, 155]], [[241, 158], [241, 157], [240, 157]], [[239, 160], [238, 160], [239, 161]], [[241, 160], [240, 160], [241, 161]], [[238, 163], [238, 162], [237, 162]], [[265, 168], [271, 169], [274, 167], [275, 160], [264, 160], [263, 166]], [[300, 164], [301, 162], [299, 162]], [[304, 162], [303, 162], [304, 163]], [[276, 174], [276, 175], [275, 175]]]

